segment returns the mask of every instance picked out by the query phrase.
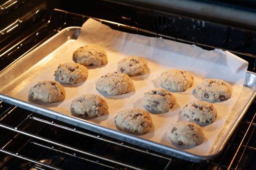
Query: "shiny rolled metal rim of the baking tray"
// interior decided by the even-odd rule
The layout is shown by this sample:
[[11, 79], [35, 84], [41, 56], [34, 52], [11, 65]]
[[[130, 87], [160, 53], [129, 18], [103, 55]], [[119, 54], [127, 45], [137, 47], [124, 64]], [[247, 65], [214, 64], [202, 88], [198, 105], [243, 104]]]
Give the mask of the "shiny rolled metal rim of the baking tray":
[[[26, 58], [27, 56], [29, 56], [29, 54], [31, 54], [34, 51], [40, 49], [42, 46], [46, 45], [50, 40], [52, 40], [52, 39], [58, 37], [59, 35], [63, 34], [63, 32], [66, 32], [66, 31], [69, 31], [69, 30], [74, 30], [74, 29], [77, 29], [78, 32], [80, 32], [81, 27], [74, 26], [74, 27], [67, 27], [65, 29], [62, 29], [56, 35], [50, 37], [48, 40], [46, 40], [40, 46], [38, 46], [37, 48], [33, 49], [28, 54], [23, 56], [23, 58]], [[74, 40], [76, 40], [76, 39], [74, 39]], [[53, 50], [52, 52], [54, 52], [54, 51], [55, 50]], [[46, 56], [44, 56], [44, 57], [46, 57]], [[18, 63], [18, 62], [22, 62], [22, 60], [18, 60], [16, 63]], [[16, 63], [13, 63], [13, 65], [8, 67], [8, 69], [13, 69], [14, 68], [13, 66]], [[5, 71], [6, 71], [6, 69], [3, 70], [2, 72], [0, 72], [0, 75], [5, 74], [6, 73]], [[249, 75], [254, 75], [256, 77], [256, 73], [254, 73], [254, 72], [247, 71], [247, 75], [248, 74]], [[247, 80], [247, 78], [245, 79], [245, 82], [246, 82], [246, 80]], [[6, 84], [6, 86], [8, 86], [8, 84]], [[2, 91], [2, 89], [5, 88], [6, 86], [1, 87], [0, 90]], [[6, 103], [9, 103], [9, 104], [15, 105], [17, 107], [23, 108], [23, 109], [27, 109], [27, 110], [32, 111], [32, 112], [36, 112], [36, 113], [41, 114], [41, 115], [45, 115], [47, 117], [54, 118], [54, 119], [59, 120], [59, 121], [64, 121], [66, 123], [73, 124], [75, 126], [78, 126], [78, 127], [81, 127], [81, 128], [87, 129], [87, 130], [94, 131], [96, 133], [100, 133], [100, 134], [103, 134], [103, 135], [108, 135], [108, 136], [111, 136], [113, 138], [117, 138], [117, 139], [122, 140], [122, 141], [130, 142], [130, 143], [135, 144], [135, 145], [140, 145], [140, 146], [145, 147], [147, 149], [152, 149], [154, 151], [167, 154], [169, 156], [175, 156], [177, 158], [182, 158], [182, 159], [187, 160], [187, 161], [201, 162], [201, 161], [206, 161], [206, 160], [215, 158], [224, 149], [225, 144], [227, 143], [227, 141], [230, 138], [230, 136], [232, 135], [233, 131], [236, 129], [237, 125], [239, 124], [241, 118], [243, 117], [243, 115], [247, 111], [248, 106], [250, 106], [250, 104], [253, 102], [253, 99], [256, 97], [255, 84], [254, 84], [253, 87], [254, 87], [253, 92], [250, 95], [251, 98], [249, 98], [246, 105], [244, 105], [244, 107], [242, 108], [241, 114], [239, 114], [239, 119], [234, 123], [233, 128], [230, 129], [230, 131], [229, 131], [230, 133], [228, 133], [227, 138], [225, 138], [223, 144], [221, 144], [221, 146], [219, 147], [218, 150], [215, 151], [215, 153], [212, 153], [212, 154], [210, 153], [207, 156], [205, 156], [205, 155], [202, 156], [202, 155], [197, 155], [197, 154], [194, 154], [194, 153], [189, 153], [189, 152], [186, 152], [184, 150], [176, 149], [176, 148], [166, 146], [166, 145], [154, 142], [154, 141], [150, 141], [148, 139], [143, 139], [143, 138], [140, 138], [140, 137], [137, 137], [137, 136], [133, 136], [131, 134], [127, 134], [127, 133], [124, 133], [124, 132], [112, 130], [112, 129], [109, 129], [107, 127], [102, 127], [102, 126], [94, 124], [92, 122], [89, 122], [89, 121], [86, 121], [86, 120], [80, 120], [79, 118], [76, 118], [76, 117], [73, 117], [73, 116], [70, 116], [70, 115], [64, 115], [60, 112], [55, 112], [55, 111], [52, 111], [50, 109], [46, 109], [44, 107], [40, 107], [40, 106], [37, 106], [35, 104], [31, 104], [29, 102], [21, 101], [19, 99], [16, 99], [16, 98], [13, 98], [11, 96], [4, 95], [4, 94], [1, 94], [1, 93], [0, 93], [0, 100], [4, 101]], [[240, 96], [240, 94], [239, 94], [239, 96]], [[239, 98], [239, 96], [238, 96], [238, 98]]]

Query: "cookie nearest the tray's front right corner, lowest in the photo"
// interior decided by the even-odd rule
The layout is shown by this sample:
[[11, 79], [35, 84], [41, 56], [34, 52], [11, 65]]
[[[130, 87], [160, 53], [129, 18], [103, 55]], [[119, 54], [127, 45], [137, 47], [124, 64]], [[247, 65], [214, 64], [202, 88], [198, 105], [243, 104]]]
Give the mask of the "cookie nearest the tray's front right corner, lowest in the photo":
[[171, 141], [179, 145], [194, 146], [204, 141], [201, 127], [190, 121], [176, 122], [169, 128], [167, 135]]

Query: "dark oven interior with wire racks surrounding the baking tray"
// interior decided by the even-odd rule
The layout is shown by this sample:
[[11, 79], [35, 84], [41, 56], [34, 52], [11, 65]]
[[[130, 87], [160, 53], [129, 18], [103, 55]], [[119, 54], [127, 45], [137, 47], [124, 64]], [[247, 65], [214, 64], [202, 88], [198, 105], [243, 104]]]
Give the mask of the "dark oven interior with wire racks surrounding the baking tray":
[[[195, 0], [196, 1], [196, 0]], [[221, 3], [223, 1], [205, 1]], [[253, 2], [233, 1], [251, 10]], [[256, 34], [249, 27], [161, 12], [140, 3], [100, 0], [1, 0], [0, 70], [8, 69], [60, 30], [81, 26], [88, 17], [108, 20], [112, 29], [163, 37], [203, 49], [229, 50], [255, 72]], [[119, 26], [117, 23], [124, 24]], [[81, 129], [0, 101], [0, 168], [13, 169], [250, 169], [255, 166], [256, 102], [217, 158], [194, 163]]]

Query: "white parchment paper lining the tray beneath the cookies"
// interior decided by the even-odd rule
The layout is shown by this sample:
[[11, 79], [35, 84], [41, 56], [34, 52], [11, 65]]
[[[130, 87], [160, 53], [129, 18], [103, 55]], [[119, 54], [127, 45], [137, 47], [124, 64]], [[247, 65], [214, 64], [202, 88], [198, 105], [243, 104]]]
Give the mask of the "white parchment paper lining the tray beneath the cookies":
[[[85, 82], [70, 85], [59, 81], [54, 75], [54, 71], [57, 69], [58, 65], [65, 62], [73, 62], [73, 52], [86, 44], [102, 46], [108, 54], [108, 63], [102, 66], [87, 66], [89, 75]], [[96, 80], [108, 72], [115, 72], [117, 70], [118, 61], [132, 55], [142, 57], [148, 63], [147, 74], [131, 77], [134, 81], [135, 89], [127, 94], [115, 96], [98, 91], [95, 86]], [[189, 153], [206, 156], [241, 91], [247, 66], [247, 61], [242, 60], [230, 52], [218, 49], [207, 51], [194, 45], [164, 40], [162, 38], [119, 32], [112, 30], [110, 27], [96, 20], [89, 19], [83, 24], [79, 37], [73, 46], [70, 46], [70, 48], [60, 55], [48, 69], [44, 70], [28, 86], [20, 91], [15, 98], [117, 130], [113, 118], [119, 110], [127, 108], [146, 109], [142, 105], [144, 93], [153, 88], [163, 88], [158, 83], [160, 74], [168, 69], [183, 69], [192, 74], [195, 84], [185, 92], [176, 92], [167, 89], [175, 95], [177, 104], [166, 113], [148, 110], [153, 119], [154, 127], [150, 132], [136, 136], [185, 150]], [[227, 101], [212, 102], [217, 109], [218, 117], [212, 124], [199, 123], [206, 137], [202, 144], [192, 147], [174, 144], [169, 140], [166, 132], [171, 124], [176, 121], [185, 120], [183, 115], [181, 115], [181, 110], [186, 104], [194, 100], [201, 100], [195, 93], [195, 87], [203, 81], [204, 78], [216, 78], [230, 83], [233, 86], [232, 97]], [[41, 101], [29, 99], [28, 94], [30, 88], [38, 81], [43, 80], [55, 80], [60, 82], [66, 90], [66, 98], [64, 101], [45, 104]], [[70, 104], [74, 98], [83, 94], [97, 94], [105, 98], [108, 102], [109, 113], [89, 119], [76, 116], [73, 111], [70, 110]]]

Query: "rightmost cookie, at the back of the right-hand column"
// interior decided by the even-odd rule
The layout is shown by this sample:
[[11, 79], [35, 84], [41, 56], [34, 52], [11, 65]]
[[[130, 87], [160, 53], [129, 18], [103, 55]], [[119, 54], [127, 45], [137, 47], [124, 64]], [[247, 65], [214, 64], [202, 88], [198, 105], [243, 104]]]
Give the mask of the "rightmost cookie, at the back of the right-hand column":
[[232, 95], [233, 87], [225, 81], [204, 79], [195, 89], [199, 97], [209, 101], [226, 101]]

